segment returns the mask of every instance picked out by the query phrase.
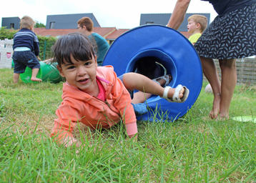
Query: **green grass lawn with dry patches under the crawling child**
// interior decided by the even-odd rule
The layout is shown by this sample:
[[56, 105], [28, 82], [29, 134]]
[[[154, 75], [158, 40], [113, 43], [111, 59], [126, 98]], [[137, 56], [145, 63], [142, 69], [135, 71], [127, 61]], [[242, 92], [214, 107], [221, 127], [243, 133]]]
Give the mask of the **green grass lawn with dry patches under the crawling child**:
[[212, 94], [200, 96], [173, 123], [137, 122], [137, 142], [122, 125], [92, 132], [77, 125], [84, 144], [59, 147], [49, 138], [62, 83], [13, 84], [0, 70], [0, 182], [256, 182], [256, 87], [237, 86], [225, 122], [208, 120]]

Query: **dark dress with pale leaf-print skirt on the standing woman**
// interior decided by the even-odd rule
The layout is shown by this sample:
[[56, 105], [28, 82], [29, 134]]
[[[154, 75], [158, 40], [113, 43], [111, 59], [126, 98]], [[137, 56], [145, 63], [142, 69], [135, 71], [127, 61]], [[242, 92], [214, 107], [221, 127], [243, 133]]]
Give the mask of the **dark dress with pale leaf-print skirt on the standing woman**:
[[[238, 59], [256, 55], [256, 0], [202, 1], [210, 1], [219, 15], [197, 40], [197, 53], [211, 59]], [[232, 4], [229, 8], [230, 1], [231, 4], [237, 1], [238, 5]], [[221, 9], [217, 9], [223, 2], [227, 2], [226, 8], [223, 9], [225, 6], [222, 5]]]

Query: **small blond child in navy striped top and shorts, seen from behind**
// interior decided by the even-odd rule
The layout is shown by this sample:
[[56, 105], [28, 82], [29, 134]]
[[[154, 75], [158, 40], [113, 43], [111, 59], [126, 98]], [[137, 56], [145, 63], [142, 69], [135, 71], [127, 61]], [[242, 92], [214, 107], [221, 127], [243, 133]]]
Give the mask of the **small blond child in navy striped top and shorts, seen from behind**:
[[[40, 69], [39, 41], [34, 34], [34, 20], [23, 16], [20, 22], [21, 29], [14, 34], [14, 83], [19, 81], [19, 74], [24, 73], [26, 66], [32, 69], [31, 81], [41, 81], [36, 78]], [[37, 57], [37, 58], [36, 58]]]

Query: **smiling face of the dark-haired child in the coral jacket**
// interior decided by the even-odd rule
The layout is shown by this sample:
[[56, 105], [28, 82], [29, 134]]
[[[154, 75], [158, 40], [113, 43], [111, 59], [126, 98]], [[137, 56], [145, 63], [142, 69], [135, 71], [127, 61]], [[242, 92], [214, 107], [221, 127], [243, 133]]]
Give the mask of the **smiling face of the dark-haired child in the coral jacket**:
[[97, 69], [97, 56], [92, 56], [88, 61], [77, 61], [71, 56], [73, 64], [64, 61], [64, 64], [57, 66], [59, 73], [65, 77], [69, 84], [75, 86], [87, 94], [95, 91], [94, 87], [97, 86], [96, 69]]

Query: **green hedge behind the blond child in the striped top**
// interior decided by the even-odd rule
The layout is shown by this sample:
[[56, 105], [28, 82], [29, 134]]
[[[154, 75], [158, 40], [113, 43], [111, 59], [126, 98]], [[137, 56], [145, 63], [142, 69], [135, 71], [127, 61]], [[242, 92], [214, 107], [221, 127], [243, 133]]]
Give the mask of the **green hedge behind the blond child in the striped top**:
[[[1, 27], [0, 28], [0, 39], [13, 39], [14, 34], [19, 30], [14, 30], [14, 29], [6, 29], [6, 27]], [[39, 49], [40, 49], [40, 54], [39, 57], [41, 60], [44, 59], [49, 59], [52, 56], [51, 52], [51, 46], [54, 45], [56, 41], [56, 37], [45, 37], [45, 36], [37, 36], [39, 40]]]

